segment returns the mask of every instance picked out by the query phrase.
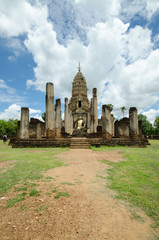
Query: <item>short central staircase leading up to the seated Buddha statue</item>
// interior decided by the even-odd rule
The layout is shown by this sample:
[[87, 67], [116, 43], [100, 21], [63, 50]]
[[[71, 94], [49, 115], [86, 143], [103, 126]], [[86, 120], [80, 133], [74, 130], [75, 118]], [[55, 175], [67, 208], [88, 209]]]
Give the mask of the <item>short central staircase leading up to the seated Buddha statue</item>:
[[88, 138], [71, 138], [70, 148], [72, 149], [89, 149], [90, 142]]

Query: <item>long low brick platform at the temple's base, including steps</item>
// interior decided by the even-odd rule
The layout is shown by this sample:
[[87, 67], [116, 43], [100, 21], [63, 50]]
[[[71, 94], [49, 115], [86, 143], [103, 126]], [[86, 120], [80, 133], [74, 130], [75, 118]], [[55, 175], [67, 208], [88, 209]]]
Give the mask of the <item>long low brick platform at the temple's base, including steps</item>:
[[70, 147], [74, 149], [89, 149], [91, 146], [129, 146], [129, 147], [146, 147], [146, 139], [125, 139], [125, 138], [57, 138], [57, 139], [10, 139], [9, 145], [12, 148], [32, 148], [32, 147]]

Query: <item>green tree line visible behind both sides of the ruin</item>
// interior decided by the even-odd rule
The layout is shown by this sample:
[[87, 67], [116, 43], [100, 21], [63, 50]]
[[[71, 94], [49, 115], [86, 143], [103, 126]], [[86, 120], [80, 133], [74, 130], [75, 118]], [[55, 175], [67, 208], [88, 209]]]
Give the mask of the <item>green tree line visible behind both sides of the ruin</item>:
[[[124, 109], [125, 110], [125, 109]], [[44, 113], [42, 117], [45, 118]], [[147, 120], [146, 115], [139, 114], [138, 119], [142, 121], [143, 135], [159, 135], [159, 116], [156, 117], [154, 124]], [[16, 136], [17, 134], [17, 119], [9, 119], [8, 121], [0, 120], [0, 136]]]

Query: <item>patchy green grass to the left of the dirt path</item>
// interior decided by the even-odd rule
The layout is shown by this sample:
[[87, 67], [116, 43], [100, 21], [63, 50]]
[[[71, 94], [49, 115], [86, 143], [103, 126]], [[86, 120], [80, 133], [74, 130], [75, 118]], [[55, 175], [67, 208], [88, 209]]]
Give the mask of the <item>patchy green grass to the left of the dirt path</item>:
[[64, 151], [68, 148], [11, 148], [0, 141], [0, 163], [9, 161], [6, 170], [0, 168], [0, 197], [16, 184], [39, 179], [43, 172], [63, 166], [55, 155]]

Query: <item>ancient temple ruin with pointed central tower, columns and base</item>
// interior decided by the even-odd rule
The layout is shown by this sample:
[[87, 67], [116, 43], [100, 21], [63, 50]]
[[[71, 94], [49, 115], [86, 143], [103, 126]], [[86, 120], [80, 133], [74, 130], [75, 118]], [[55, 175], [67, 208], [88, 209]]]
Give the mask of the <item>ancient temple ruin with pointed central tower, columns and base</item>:
[[61, 119], [61, 100], [54, 103], [54, 85], [46, 84], [45, 122], [31, 118], [29, 109], [21, 109], [17, 138], [11, 139], [13, 147], [56, 147], [89, 148], [91, 145], [128, 145], [145, 147], [142, 126], [138, 122], [135, 107], [129, 109], [129, 118], [114, 122], [109, 105], [102, 106], [98, 119], [97, 89], [92, 98], [87, 96], [87, 82], [80, 66], [72, 83], [72, 96], [65, 98], [64, 120]]

